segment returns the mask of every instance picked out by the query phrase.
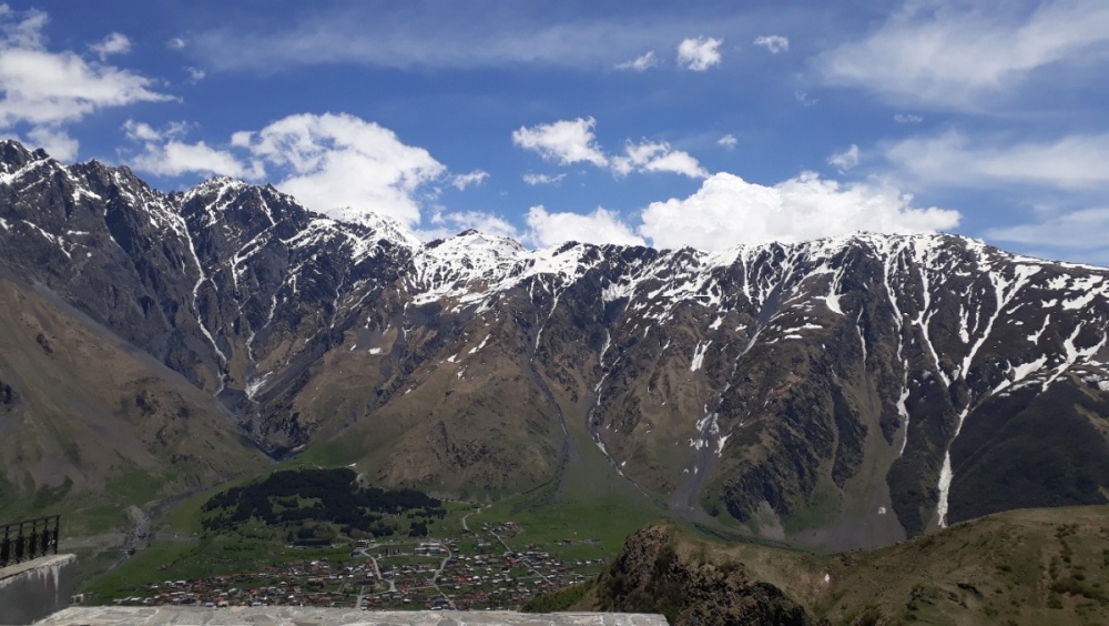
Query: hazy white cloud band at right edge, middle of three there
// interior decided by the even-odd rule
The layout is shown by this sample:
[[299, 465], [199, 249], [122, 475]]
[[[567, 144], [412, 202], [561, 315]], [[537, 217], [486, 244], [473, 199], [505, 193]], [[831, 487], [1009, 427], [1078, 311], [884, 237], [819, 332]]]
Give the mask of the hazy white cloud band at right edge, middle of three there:
[[886, 148], [886, 158], [904, 175], [929, 184], [1070, 190], [1109, 185], [1109, 134], [1013, 143], [953, 131], [894, 143]]

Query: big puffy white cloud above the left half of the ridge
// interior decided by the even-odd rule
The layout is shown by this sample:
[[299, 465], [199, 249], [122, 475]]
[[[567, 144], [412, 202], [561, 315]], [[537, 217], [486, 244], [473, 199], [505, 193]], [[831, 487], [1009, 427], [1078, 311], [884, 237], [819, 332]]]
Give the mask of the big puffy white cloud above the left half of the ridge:
[[427, 150], [347, 114], [289, 115], [236, 139], [248, 141], [254, 156], [287, 172], [277, 189], [340, 220], [374, 212], [418, 224], [419, 193], [446, 173]]

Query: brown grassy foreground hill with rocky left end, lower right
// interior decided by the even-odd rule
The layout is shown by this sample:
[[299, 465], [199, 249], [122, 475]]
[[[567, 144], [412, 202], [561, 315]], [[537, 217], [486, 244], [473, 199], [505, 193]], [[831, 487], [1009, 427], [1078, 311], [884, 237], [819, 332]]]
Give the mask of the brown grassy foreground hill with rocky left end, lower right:
[[536, 608], [661, 612], [683, 624], [1106, 624], [1109, 507], [1013, 511], [898, 545], [817, 556], [632, 535], [588, 588]]

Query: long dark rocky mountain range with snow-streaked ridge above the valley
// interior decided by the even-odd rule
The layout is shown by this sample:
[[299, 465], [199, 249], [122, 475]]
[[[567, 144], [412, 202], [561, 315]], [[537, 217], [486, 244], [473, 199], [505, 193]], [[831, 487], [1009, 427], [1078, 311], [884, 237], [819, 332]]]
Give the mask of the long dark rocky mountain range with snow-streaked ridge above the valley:
[[531, 251], [151, 190], [0, 145], [0, 264], [231, 407], [272, 454], [508, 493], [603, 455], [711, 523], [888, 543], [1109, 488], [1109, 270], [858, 233]]

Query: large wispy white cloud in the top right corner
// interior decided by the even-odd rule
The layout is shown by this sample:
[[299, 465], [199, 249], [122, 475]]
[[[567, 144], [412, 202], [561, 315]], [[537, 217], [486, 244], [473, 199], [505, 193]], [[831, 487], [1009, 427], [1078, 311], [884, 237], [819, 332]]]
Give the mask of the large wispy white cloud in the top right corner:
[[1020, 2], [909, 2], [866, 39], [820, 55], [816, 68], [830, 83], [893, 102], [974, 109], [1035, 70], [1091, 67], [1109, 52], [1103, 0], [1024, 9]]

